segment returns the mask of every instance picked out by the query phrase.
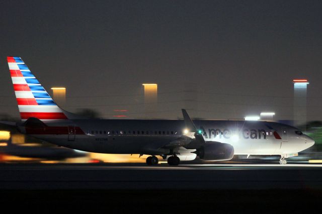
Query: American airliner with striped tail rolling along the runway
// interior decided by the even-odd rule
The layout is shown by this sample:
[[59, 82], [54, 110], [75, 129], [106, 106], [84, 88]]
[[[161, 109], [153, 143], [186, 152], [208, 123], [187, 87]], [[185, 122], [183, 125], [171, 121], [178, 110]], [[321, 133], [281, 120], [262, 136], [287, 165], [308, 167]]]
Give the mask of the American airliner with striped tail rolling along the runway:
[[7, 57], [21, 122], [26, 135], [71, 149], [95, 153], [149, 155], [147, 165], [158, 158], [169, 165], [194, 160], [230, 160], [234, 155], [280, 155], [286, 158], [314, 144], [295, 127], [266, 121], [104, 120], [87, 119], [61, 109], [20, 57]]

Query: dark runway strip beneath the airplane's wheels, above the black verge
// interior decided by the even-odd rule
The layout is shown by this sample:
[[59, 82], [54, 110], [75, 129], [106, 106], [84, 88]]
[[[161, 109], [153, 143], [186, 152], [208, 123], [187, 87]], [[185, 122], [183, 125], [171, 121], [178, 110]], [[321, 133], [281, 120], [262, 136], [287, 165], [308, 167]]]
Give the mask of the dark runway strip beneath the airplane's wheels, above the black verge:
[[321, 164], [1, 164], [0, 189], [322, 189]]

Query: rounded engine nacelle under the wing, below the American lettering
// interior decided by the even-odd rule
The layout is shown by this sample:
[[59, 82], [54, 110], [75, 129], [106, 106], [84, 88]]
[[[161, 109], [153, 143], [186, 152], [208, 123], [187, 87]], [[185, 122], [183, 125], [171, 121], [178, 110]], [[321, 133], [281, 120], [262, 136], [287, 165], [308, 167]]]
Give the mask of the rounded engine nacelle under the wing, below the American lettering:
[[233, 157], [233, 146], [226, 143], [207, 142], [205, 146], [198, 149], [200, 159], [208, 161], [224, 161]]

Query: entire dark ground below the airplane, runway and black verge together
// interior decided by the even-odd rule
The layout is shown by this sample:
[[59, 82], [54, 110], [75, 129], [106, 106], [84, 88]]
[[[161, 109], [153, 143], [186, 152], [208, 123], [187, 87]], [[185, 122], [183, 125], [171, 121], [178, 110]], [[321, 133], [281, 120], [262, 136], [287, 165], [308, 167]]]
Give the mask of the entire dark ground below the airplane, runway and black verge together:
[[318, 213], [322, 167], [7, 164], [0, 189], [34, 213]]

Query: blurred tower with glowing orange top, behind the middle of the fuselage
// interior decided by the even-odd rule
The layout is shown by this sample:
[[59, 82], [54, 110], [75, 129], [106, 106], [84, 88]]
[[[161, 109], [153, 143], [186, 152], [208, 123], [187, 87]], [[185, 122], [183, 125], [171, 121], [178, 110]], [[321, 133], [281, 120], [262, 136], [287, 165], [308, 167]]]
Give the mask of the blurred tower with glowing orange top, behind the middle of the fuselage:
[[157, 84], [156, 83], [143, 83], [144, 87], [144, 112], [145, 117], [153, 115], [157, 112]]

